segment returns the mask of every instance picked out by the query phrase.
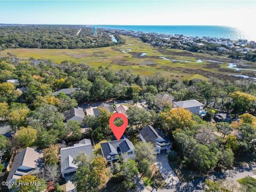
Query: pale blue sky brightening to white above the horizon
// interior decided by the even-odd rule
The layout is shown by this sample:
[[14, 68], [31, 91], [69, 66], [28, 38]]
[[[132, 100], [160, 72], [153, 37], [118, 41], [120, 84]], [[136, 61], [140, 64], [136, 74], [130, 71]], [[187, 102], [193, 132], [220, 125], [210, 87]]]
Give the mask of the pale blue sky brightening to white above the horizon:
[[256, 1], [0, 1], [0, 23], [253, 27]]

